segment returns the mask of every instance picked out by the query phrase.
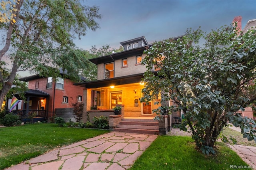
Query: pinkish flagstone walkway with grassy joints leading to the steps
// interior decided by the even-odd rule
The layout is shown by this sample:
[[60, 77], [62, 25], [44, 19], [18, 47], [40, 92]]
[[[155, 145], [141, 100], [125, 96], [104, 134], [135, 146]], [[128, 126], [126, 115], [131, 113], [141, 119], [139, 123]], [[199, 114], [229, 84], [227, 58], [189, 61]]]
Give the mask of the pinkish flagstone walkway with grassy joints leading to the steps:
[[58, 148], [7, 170], [125, 170], [157, 135], [110, 132]]

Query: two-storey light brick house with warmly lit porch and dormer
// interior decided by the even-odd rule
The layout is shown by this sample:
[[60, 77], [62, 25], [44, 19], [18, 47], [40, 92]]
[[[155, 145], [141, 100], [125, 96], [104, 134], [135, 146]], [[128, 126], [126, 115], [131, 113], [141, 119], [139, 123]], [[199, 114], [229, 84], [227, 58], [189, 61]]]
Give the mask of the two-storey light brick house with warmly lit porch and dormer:
[[[122, 106], [122, 116], [118, 121], [114, 121], [110, 129], [158, 134], [158, 122], [153, 120], [156, 114], [152, 110], [160, 105], [154, 105], [154, 101], [148, 104], [140, 103], [144, 88], [141, 79], [146, 71], [146, 65], [142, 65], [141, 61], [146, 55], [144, 50], [152, 44], [148, 44], [144, 36], [120, 44], [124, 47], [124, 51], [90, 59], [98, 66], [96, 81], [75, 83], [85, 88], [83, 121], [88, 121], [89, 113], [90, 119], [105, 115], [111, 119], [109, 122], [113, 122], [114, 113], [111, 109]], [[168, 125], [164, 130], [170, 128], [173, 121], [172, 118], [167, 119]]]

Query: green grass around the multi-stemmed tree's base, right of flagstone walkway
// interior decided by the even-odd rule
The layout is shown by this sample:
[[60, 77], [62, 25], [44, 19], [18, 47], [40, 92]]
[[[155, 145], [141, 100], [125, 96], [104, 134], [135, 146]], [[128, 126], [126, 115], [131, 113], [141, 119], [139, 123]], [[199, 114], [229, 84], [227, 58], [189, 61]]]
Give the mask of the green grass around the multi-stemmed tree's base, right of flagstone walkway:
[[196, 149], [190, 136], [158, 136], [134, 162], [130, 170], [223, 170], [247, 164], [224, 143], [217, 142], [216, 154], [206, 156]]

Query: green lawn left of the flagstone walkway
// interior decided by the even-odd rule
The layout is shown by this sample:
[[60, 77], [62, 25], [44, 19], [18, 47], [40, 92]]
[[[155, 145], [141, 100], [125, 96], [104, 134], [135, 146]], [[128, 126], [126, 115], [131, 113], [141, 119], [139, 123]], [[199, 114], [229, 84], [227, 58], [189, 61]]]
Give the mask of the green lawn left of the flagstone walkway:
[[0, 169], [106, 132], [109, 131], [58, 127], [52, 123], [0, 128]]

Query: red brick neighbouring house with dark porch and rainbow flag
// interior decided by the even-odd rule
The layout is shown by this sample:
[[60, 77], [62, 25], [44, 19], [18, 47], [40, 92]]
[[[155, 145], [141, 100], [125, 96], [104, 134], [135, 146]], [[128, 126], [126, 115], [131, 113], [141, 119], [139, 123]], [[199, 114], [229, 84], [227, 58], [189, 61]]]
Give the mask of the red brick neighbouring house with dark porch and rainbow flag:
[[70, 79], [62, 77], [53, 79], [32, 75], [19, 80], [28, 82], [29, 89], [25, 91], [28, 104], [24, 104], [23, 116], [36, 112], [36, 117], [44, 117], [46, 120], [53, 116], [64, 117], [66, 121], [68, 118], [74, 119], [72, 104], [82, 102], [83, 87], [76, 86]]

